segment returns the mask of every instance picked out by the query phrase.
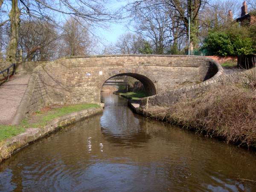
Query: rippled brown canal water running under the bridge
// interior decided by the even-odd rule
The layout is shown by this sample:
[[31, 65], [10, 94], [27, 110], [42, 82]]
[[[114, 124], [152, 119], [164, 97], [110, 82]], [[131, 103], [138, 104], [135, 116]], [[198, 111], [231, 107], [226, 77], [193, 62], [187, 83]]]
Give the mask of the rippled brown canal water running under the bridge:
[[256, 191], [255, 151], [146, 119], [103, 94], [103, 114], [4, 161], [0, 191]]

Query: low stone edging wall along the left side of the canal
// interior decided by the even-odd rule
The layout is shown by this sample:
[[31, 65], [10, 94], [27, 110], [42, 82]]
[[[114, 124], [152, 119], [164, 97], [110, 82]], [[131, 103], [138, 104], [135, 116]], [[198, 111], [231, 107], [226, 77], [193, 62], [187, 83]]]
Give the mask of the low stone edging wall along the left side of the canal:
[[41, 128], [26, 128], [21, 134], [0, 142], [0, 163], [30, 143], [46, 137], [60, 128], [102, 113], [102, 111], [102, 108], [88, 108], [55, 118]]

